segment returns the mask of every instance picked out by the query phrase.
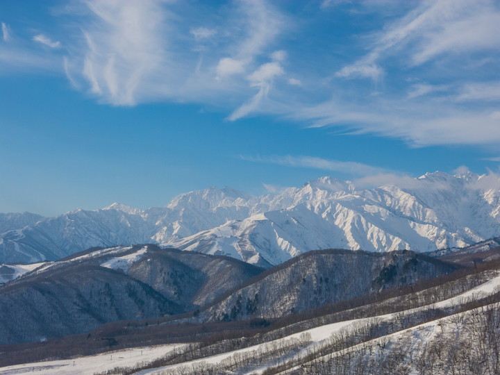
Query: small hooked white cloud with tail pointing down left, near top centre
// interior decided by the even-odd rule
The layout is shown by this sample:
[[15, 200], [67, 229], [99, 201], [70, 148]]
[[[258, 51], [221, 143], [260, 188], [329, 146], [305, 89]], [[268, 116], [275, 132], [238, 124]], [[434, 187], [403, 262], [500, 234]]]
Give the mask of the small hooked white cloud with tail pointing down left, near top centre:
[[228, 119], [235, 121], [256, 110], [260, 101], [267, 96], [274, 77], [281, 76], [284, 73], [285, 71], [279, 63], [273, 62], [261, 65], [255, 72], [248, 76], [251, 87], [258, 88], [258, 92], [247, 103], [244, 103], [240, 108], [233, 111]]

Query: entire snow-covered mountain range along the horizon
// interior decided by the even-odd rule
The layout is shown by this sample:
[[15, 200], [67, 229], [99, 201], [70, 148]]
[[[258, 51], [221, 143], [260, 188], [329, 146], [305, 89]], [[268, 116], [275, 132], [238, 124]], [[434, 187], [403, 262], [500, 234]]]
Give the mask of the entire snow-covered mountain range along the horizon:
[[[500, 187], [443, 172], [357, 190], [322, 177], [253, 197], [229, 188], [181, 194], [163, 208], [119, 203], [58, 217], [0, 216], [0, 262], [63, 258], [89, 247], [154, 242], [276, 265], [314, 249], [433, 251], [500, 235]], [[24, 215], [24, 216], [22, 216]], [[17, 227], [16, 227], [17, 225]]]

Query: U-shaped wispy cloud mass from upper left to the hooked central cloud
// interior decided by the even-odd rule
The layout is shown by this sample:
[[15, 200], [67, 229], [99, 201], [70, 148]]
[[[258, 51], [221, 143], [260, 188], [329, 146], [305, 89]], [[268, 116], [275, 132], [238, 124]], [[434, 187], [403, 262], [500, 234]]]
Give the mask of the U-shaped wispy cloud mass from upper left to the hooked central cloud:
[[[284, 20], [267, 1], [235, 2], [225, 24], [188, 26], [188, 35], [179, 32], [178, 16], [163, 1], [85, 4], [92, 22], [82, 27], [85, 43], [69, 49], [65, 74], [74, 87], [87, 86], [105, 103], [174, 100], [237, 106], [257, 88], [228, 117], [237, 119], [258, 108], [273, 78], [283, 72], [275, 61], [269, 63], [267, 48]], [[278, 50], [270, 59], [285, 56]]]

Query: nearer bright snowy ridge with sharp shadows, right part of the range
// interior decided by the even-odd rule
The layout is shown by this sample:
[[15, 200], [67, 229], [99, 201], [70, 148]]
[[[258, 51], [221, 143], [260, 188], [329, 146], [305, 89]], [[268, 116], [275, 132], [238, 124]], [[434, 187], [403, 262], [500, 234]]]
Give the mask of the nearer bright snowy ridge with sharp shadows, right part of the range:
[[465, 247], [500, 232], [500, 192], [478, 188], [483, 178], [436, 172], [401, 188], [351, 190], [324, 198], [314, 194], [313, 199], [295, 199], [288, 208], [228, 222], [169, 245], [274, 265], [310, 249]]

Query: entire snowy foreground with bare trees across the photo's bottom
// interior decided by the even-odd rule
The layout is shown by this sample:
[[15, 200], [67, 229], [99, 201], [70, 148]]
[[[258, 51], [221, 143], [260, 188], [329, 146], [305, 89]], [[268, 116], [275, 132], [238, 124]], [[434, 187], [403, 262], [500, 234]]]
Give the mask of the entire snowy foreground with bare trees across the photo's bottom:
[[[1, 367], [0, 374], [498, 374], [500, 273], [471, 277], [412, 293], [412, 302], [403, 295], [366, 306], [365, 313], [347, 310], [349, 319], [311, 319], [301, 323], [309, 328], [267, 333], [243, 348], [241, 340], [177, 344], [175, 352], [137, 347]], [[408, 307], [398, 309], [399, 303]], [[224, 349], [231, 346], [237, 349]], [[167, 364], [154, 367], [152, 360]]]

